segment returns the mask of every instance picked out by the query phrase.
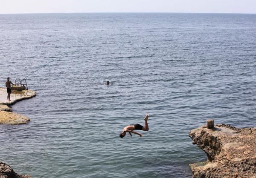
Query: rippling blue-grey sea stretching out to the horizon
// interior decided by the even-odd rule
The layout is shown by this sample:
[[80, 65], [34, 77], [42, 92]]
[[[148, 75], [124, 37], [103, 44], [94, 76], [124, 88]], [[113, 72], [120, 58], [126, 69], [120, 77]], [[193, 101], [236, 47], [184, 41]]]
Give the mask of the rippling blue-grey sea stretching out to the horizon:
[[[0, 86], [26, 78], [31, 121], [0, 161], [37, 178], [189, 178], [188, 132], [256, 126], [256, 14], [0, 14]], [[105, 85], [109, 81], [110, 85]], [[123, 127], [149, 131], [119, 137]]]

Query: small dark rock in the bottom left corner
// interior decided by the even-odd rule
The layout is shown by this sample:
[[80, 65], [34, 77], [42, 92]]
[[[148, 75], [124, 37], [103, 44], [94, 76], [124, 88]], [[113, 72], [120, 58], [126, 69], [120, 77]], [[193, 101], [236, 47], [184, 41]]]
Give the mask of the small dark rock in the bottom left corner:
[[19, 175], [7, 164], [0, 162], [0, 178], [32, 178], [30, 175]]

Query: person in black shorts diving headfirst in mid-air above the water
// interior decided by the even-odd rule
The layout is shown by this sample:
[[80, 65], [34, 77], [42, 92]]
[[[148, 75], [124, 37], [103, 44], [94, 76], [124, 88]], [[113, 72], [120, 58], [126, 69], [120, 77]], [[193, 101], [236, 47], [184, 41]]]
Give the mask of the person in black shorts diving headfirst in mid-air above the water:
[[130, 136], [131, 136], [131, 133], [134, 133], [134, 134], [137, 134], [137, 135], [140, 135], [140, 137], [143, 137], [143, 135], [141, 133], [138, 133], [138, 132], [135, 132], [134, 130], [144, 130], [144, 131], [148, 131], [148, 117], [149, 115], [146, 115], [145, 118], [144, 118], [144, 121], [145, 121], [145, 125], [142, 126], [138, 123], [134, 124], [134, 125], [129, 125], [129, 126], [126, 126], [123, 131], [120, 133], [119, 137], [123, 138], [125, 135], [126, 135], [126, 132], [129, 132]]

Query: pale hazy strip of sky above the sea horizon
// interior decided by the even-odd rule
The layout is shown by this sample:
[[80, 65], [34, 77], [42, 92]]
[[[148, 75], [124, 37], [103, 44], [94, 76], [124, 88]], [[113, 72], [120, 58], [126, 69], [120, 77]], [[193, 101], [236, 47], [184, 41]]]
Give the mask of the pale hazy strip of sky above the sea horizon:
[[256, 13], [256, 0], [0, 0], [0, 14], [58, 12]]

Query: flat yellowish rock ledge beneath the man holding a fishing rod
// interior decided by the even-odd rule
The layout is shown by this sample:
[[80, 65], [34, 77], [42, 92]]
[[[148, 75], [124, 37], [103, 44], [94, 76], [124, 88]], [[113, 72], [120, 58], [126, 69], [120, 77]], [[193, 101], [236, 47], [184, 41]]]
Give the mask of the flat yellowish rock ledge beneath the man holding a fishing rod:
[[0, 124], [24, 124], [30, 121], [24, 115], [12, 112], [10, 105], [24, 99], [29, 99], [36, 96], [36, 92], [32, 90], [14, 91], [11, 93], [11, 100], [6, 101], [6, 89], [0, 88]]

